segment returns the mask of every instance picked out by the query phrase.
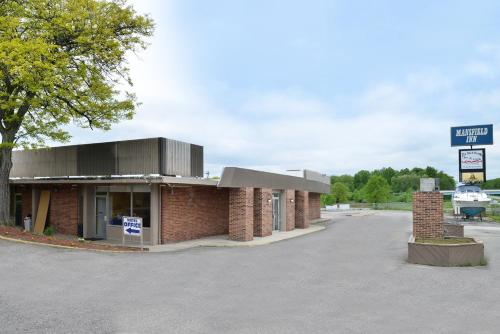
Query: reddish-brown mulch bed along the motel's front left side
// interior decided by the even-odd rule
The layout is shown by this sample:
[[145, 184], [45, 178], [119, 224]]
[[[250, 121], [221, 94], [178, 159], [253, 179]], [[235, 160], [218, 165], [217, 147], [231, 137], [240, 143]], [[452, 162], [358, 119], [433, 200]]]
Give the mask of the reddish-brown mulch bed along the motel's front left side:
[[75, 247], [82, 249], [141, 252], [140, 248], [103, 245], [86, 240], [79, 241], [78, 238], [68, 237], [67, 235], [46, 236], [46, 235], [33, 234], [31, 232], [24, 232], [21, 228], [14, 226], [0, 225], [0, 235], [7, 238], [19, 239], [30, 242], [38, 242], [41, 244], [59, 245], [59, 246]]

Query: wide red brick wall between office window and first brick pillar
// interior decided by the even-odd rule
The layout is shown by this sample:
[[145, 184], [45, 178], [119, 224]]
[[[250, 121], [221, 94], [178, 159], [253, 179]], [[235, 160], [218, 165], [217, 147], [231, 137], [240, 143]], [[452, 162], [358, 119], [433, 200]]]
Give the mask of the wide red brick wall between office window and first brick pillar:
[[229, 191], [216, 187], [162, 187], [162, 243], [228, 233]]

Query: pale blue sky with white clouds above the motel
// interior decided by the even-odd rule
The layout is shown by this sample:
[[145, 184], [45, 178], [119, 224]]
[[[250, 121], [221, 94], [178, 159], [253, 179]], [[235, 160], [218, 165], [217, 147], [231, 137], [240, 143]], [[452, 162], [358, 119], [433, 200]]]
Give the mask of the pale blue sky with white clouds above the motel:
[[[457, 175], [449, 127], [500, 140], [498, 1], [139, 1], [157, 24], [130, 57], [133, 121], [73, 143], [164, 136], [205, 169], [328, 174], [432, 165]], [[500, 177], [500, 148], [487, 148]]]

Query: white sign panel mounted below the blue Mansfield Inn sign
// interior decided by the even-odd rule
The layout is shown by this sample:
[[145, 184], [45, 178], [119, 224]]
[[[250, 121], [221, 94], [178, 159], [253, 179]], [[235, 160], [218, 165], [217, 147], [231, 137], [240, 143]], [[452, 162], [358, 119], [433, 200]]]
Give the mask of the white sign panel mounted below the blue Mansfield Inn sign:
[[476, 183], [486, 181], [486, 150], [458, 150], [460, 182]]

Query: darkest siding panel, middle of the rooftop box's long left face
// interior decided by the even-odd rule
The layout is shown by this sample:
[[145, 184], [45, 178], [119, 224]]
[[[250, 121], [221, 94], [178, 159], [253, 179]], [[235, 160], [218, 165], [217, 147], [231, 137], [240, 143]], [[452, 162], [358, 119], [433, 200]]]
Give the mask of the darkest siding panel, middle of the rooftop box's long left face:
[[77, 146], [77, 175], [117, 175], [116, 151], [116, 142]]

